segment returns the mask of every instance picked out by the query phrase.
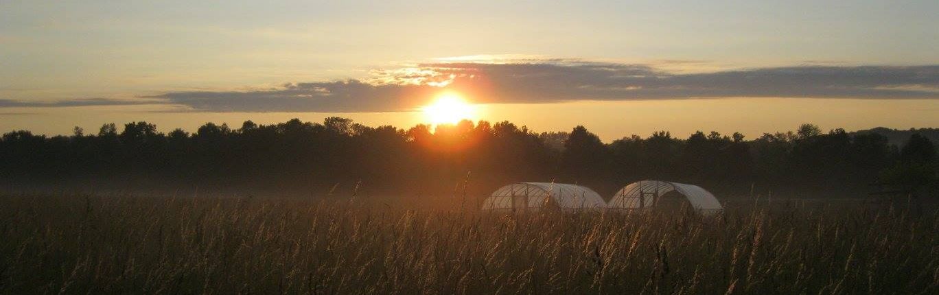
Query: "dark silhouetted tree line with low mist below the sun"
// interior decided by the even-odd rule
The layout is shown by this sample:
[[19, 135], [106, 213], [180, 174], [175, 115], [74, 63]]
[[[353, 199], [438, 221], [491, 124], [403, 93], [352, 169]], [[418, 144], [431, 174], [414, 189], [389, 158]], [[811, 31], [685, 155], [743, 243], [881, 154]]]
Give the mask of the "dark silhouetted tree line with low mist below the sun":
[[[583, 126], [532, 132], [508, 121], [369, 127], [342, 117], [240, 128], [206, 123], [158, 132], [144, 121], [104, 124], [94, 134], [28, 131], [0, 139], [9, 185], [99, 181], [167, 186], [302, 188], [371, 194], [486, 194], [515, 181], [587, 185], [601, 194], [639, 179], [699, 184], [718, 194], [934, 194], [939, 161], [914, 133], [900, 146], [876, 132], [793, 132], [747, 139], [739, 132], [632, 135], [603, 143]], [[879, 185], [879, 186], [878, 186]], [[468, 193], [469, 192], [469, 193]], [[775, 192], [775, 193], [771, 193]]]

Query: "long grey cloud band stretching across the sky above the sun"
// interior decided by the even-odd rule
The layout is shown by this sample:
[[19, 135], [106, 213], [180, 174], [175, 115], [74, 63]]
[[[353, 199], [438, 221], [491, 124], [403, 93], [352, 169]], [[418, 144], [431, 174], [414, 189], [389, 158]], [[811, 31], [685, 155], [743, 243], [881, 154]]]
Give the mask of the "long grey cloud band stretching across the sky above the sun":
[[[452, 58], [362, 80], [286, 84], [249, 91], [170, 91], [147, 103], [202, 112], [397, 112], [415, 110], [443, 89], [484, 103], [551, 103], [719, 98], [939, 99], [939, 66], [798, 66], [682, 72], [668, 65], [580, 59]], [[85, 100], [3, 106], [132, 104]]]

